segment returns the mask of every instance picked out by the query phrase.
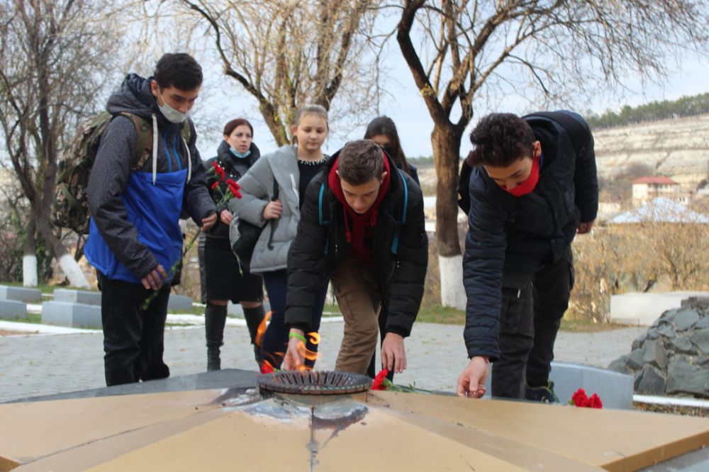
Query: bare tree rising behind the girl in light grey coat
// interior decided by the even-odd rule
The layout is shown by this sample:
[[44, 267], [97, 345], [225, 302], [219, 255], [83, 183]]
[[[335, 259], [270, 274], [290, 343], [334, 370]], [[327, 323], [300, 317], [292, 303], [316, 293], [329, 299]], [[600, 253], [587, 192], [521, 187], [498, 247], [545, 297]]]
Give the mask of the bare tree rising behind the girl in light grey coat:
[[376, 0], [179, 3], [208, 25], [224, 73], [255, 97], [277, 145], [305, 103], [330, 110], [339, 94], [345, 106], [331, 118], [372, 113]]

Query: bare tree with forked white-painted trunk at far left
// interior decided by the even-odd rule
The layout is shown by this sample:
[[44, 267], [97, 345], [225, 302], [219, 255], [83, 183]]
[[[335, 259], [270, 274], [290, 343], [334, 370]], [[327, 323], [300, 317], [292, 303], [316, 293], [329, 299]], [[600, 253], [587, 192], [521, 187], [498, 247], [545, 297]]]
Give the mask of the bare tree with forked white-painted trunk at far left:
[[88, 287], [50, 224], [57, 157], [92, 111], [120, 44], [99, 4], [11, 0], [0, 4], [0, 126], [10, 167], [29, 202], [23, 283], [36, 285], [42, 241], [73, 286]]

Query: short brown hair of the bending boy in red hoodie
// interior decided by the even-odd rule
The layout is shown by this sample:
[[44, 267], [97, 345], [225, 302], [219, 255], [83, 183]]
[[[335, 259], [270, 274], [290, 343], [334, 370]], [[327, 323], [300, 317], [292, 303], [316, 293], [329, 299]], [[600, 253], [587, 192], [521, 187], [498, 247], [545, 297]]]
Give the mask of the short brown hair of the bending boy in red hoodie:
[[374, 178], [379, 180], [384, 172], [384, 152], [372, 140], [348, 142], [340, 151], [337, 171], [340, 179], [350, 185], [367, 184]]

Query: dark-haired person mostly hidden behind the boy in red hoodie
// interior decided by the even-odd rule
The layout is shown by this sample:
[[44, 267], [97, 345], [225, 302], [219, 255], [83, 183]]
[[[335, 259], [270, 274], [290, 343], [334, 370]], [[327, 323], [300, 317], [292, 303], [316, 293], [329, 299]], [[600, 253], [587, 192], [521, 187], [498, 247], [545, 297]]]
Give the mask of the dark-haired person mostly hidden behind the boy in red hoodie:
[[[403, 170], [406, 174], [409, 174], [412, 179], [416, 182], [416, 185], [420, 186], [418, 181], [418, 170], [413, 164], [409, 164], [406, 160], [406, 154], [403, 153], [403, 148], [401, 147], [401, 140], [398, 137], [398, 131], [396, 130], [396, 125], [389, 116], [377, 116], [374, 120], [369, 122], [367, 125], [367, 130], [364, 131], [364, 139], [372, 140], [376, 144], [380, 145], [386, 154], [391, 156], [394, 164], [398, 169]], [[379, 337], [380, 342], [384, 342], [384, 334], [386, 333], [386, 317], [389, 315], [389, 308], [386, 308], [386, 304], [381, 304], [381, 310], [379, 310]], [[376, 376], [376, 352], [372, 354], [372, 361], [369, 363], [369, 368], [367, 368], [367, 375], [374, 378]], [[386, 376], [390, 381], [393, 381], [394, 373], [389, 372]]]

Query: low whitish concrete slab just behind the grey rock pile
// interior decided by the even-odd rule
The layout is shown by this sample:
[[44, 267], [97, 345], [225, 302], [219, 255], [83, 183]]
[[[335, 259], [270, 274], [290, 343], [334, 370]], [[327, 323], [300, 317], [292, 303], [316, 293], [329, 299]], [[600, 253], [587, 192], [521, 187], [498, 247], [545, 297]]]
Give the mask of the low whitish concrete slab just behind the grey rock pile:
[[709, 292], [623, 293], [610, 297], [610, 320], [623, 325], [650, 326], [666, 310], [680, 308], [682, 300], [709, 296]]

